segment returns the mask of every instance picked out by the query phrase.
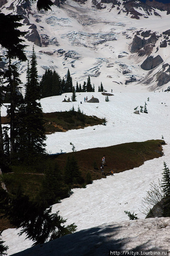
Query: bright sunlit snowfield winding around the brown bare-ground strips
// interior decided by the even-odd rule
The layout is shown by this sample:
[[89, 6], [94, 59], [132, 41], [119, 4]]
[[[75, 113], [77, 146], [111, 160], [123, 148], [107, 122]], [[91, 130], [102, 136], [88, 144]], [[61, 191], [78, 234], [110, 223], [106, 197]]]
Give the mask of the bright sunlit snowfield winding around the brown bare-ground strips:
[[[150, 189], [152, 181], [158, 182], [162, 177], [163, 161], [170, 166], [170, 93], [168, 92], [138, 92], [132, 93], [132, 86], [125, 87], [121, 93], [110, 96], [110, 102], [105, 102], [101, 93], [93, 93], [99, 103], [84, 103], [87, 95], [77, 94], [77, 102], [62, 102], [65, 95], [44, 98], [41, 100], [44, 112], [64, 111], [80, 106], [81, 111], [88, 115], [106, 117], [107, 125], [97, 125], [68, 132], [56, 132], [47, 136], [47, 151], [49, 153], [71, 152], [72, 142], [76, 150], [86, 148], [105, 147], [125, 142], [161, 139], [162, 135], [167, 145], [163, 146], [164, 155], [144, 162], [144, 165], [117, 173], [114, 177], [96, 180], [85, 189], [74, 189], [69, 198], [53, 206], [53, 212], [67, 219], [67, 224], [75, 222], [77, 230], [102, 225], [109, 222], [121, 222], [128, 219], [124, 210], [135, 212], [139, 218], [145, 215], [142, 210], [142, 198]], [[67, 97], [70, 97], [67, 94]], [[147, 101], [149, 98], [149, 101]], [[82, 104], [80, 104], [82, 101]], [[148, 114], [134, 114], [136, 106], [147, 103]], [[139, 109], [139, 107], [138, 107]], [[4, 112], [5, 113], [5, 112]], [[95, 130], [94, 130], [95, 129]], [[99, 159], [102, 156], [98, 156]], [[100, 160], [99, 160], [100, 161]], [[106, 156], [107, 161], [107, 156]], [[109, 170], [112, 166], [105, 167]], [[18, 237], [19, 230], [8, 229], [3, 231], [2, 238], [9, 246], [8, 255], [29, 248], [32, 244], [24, 240], [25, 236]], [[17, 246], [16, 246], [17, 245]]]

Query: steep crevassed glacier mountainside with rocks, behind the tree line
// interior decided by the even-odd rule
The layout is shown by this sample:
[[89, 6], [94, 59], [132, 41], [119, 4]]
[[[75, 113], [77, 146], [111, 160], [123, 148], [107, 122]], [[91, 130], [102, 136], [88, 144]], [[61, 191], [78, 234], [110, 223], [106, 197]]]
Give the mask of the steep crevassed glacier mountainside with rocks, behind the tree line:
[[[27, 56], [35, 44], [39, 76], [51, 68], [63, 77], [69, 68], [74, 85], [76, 81], [83, 83], [90, 75], [96, 91], [101, 81], [106, 90], [129, 83], [134, 91], [136, 84], [149, 90], [170, 86], [167, 10], [147, 5], [152, 9], [148, 11], [140, 1], [103, 1], [107, 7], [101, 10], [90, 0], [84, 4], [67, 0], [60, 7], [56, 2], [48, 12], [38, 12], [36, 3], [24, 0], [7, 0], [0, 8], [5, 14], [23, 15], [22, 30], [28, 31]], [[131, 5], [143, 13], [140, 19], [132, 19]], [[27, 63], [19, 63], [23, 83], [26, 66]]]

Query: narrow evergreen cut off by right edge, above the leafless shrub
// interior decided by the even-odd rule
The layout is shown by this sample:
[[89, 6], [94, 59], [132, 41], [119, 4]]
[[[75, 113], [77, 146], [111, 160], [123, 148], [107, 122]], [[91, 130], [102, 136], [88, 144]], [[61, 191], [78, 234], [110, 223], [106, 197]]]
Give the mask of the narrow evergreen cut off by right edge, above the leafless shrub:
[[163, 162], [163, 178], [162, 178], [162, 190], [165, 196], [170, 196], [170, 170], [167, 167], [165, 161]]

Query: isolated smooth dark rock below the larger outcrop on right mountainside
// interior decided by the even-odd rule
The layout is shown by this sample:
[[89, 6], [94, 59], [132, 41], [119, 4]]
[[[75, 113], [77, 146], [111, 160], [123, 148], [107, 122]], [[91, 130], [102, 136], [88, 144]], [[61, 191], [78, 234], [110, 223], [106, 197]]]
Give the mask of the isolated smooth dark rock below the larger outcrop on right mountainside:
[[148, 56], [146, 60], [143, 61], [143, 63], [140, 65], [140, 67], [144, 70], [151, 70], [158, 65], [160, 65], [163, 62], [160, 55], [157, 57]]

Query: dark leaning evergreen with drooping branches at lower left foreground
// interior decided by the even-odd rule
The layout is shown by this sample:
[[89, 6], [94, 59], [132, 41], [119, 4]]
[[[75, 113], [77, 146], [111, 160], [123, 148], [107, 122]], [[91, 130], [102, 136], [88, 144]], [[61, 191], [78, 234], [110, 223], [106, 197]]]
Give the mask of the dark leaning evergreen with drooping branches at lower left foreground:
[[76, 230], [74, 223], [63, 226], [66, 221], [58, 215], [58, 212], [51, 214], [51, 207], [33, 203], [23, 195], [20, 190], [12, 199], [8, 207], [7, 216], [11, 223], [20, 227], [19, 236], [26, 233], [26, 238], [34, 241], [33, 245], [43, 244], [47, 240], [53, 240]]

